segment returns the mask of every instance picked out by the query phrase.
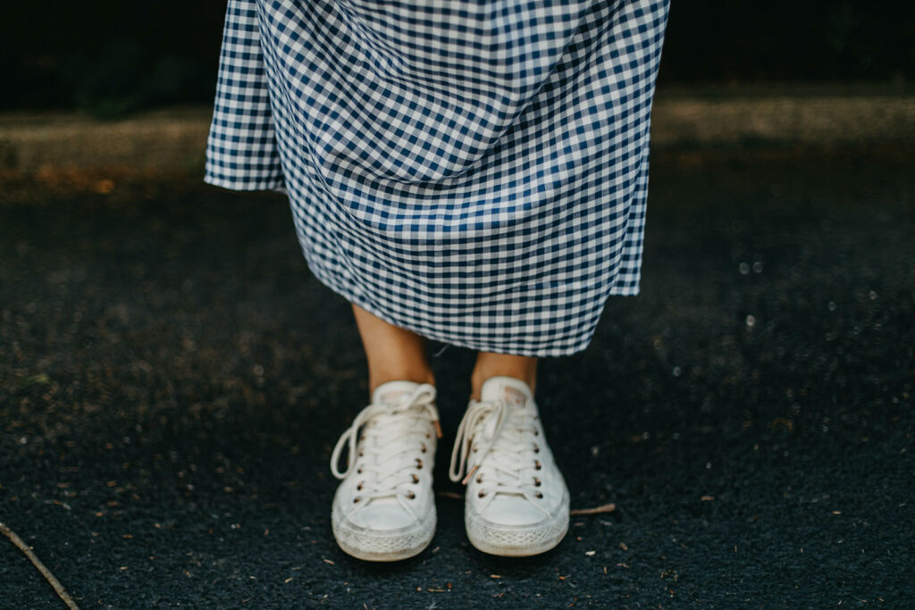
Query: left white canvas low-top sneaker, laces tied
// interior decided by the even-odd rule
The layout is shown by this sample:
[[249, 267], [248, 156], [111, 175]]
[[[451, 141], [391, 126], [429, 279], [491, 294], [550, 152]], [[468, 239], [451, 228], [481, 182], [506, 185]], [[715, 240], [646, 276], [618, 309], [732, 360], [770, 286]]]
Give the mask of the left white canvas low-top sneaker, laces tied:
[[[334, 447], [330, 470], [343, 482], [334, 495], [331, 525], [340, 548], [353, 557], [393, 562], [413, 557], [432, 540], [432, 471], [441, 436], [435, 399], [428, 383], [384, 383]], [[348, 443], [347, 469], [340, 472]]]

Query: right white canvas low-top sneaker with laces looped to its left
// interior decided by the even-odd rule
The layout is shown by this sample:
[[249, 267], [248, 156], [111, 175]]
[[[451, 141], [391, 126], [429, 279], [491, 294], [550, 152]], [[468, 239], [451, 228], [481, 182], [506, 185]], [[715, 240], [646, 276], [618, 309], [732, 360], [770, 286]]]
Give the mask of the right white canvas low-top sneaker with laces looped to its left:
[[493, 555], [549, 551], [568, 530], [569, 492], [546, 444], [531, 389], [521, 380], [493, 377], [480, 398], [470, 401], [458, 428], [448, 473], [457, 482], [468, 469], [468, 539]]

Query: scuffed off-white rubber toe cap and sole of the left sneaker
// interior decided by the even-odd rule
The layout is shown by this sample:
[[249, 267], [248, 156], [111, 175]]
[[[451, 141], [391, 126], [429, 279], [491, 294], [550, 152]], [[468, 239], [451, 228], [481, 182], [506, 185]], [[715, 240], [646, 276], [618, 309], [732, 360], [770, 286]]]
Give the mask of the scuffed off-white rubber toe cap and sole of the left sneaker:
[[331, 515], [331, 529], [339, 548], [365, 562], [399, 562], [425, 551], [436, 533], [436, 515], [424, 522], [400, 530], [367, 530], [353, 525], [336, 511]]

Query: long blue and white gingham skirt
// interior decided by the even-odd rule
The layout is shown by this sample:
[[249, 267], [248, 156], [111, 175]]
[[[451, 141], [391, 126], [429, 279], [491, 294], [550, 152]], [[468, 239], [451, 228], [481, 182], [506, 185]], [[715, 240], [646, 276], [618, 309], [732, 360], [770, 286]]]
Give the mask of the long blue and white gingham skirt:
[[528, 356], [639, 290], [667, 0], [230, 0], [205, 180], [375, 316]]

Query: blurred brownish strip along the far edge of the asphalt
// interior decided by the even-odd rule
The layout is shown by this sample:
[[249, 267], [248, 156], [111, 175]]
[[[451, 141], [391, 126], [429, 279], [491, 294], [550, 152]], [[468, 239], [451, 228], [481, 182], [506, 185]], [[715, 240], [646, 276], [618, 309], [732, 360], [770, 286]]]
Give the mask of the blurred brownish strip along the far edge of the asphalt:
[[[108, 197], [134, 187], [199, 184], [211, 107], [104, 119], [81, 112], [0, 113], [0, 197], [38, 190]], [[868, 157], [915, 158], [915, 91], [904, 83], [664, 86], [651, 158], [676, 166]]]

